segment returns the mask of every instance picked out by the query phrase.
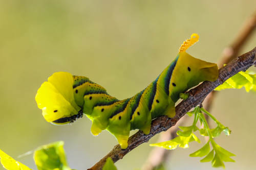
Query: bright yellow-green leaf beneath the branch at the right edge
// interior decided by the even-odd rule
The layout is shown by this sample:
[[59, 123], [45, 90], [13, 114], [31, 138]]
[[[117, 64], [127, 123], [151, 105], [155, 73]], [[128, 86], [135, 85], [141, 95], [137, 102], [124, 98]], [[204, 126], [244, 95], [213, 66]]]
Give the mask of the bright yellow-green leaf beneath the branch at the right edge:
[[223, 90], [230, 88], [240, 89], [244, 87], [247, 92], [250, 90], [256, 91], [256, 74], [249, 71], [240, 71], [238, 74], [227, 79], [222, 85], [218, 86], [215, 90]]

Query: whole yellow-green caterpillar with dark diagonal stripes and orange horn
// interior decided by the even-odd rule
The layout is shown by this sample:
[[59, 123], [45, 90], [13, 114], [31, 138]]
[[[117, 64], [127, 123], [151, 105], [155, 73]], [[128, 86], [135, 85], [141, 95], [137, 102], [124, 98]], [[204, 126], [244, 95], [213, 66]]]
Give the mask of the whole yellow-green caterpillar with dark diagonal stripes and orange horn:
[[113, 134], [122, 149], [127, 148], [130, 131], [150, 133], [152, 119], [175, 116], [175, 103], [191, 87], [218, 78], [215, 63], [196, 59], [186, 53], [199, 40], [198, 34], [183, 42], [177, 57], [145, 89], [134, 96], [118, 100], [87, 77], [55, 72], [42, 83], [35, 100], [42, 115], [55, 125], [73, 123], [86, 114], [92, 120], [91, 132]]

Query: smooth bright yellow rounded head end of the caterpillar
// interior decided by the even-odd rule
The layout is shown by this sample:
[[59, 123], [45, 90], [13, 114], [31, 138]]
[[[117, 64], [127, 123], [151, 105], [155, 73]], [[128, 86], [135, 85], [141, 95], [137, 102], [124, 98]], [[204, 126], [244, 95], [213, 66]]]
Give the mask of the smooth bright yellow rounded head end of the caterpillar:
[[82, 117], [82, 110], [74, 100], [73, 84], [70, 73], [55, 72], [37, 90], [35, 100], [47, 122], [62, 125]]

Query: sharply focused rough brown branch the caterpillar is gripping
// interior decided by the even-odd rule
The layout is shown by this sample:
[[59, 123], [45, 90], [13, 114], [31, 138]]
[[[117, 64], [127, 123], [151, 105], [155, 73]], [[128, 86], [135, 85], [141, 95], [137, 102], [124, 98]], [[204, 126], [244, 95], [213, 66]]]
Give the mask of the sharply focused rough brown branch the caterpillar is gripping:
[[161, 116], [152, 121], [151, 132], [148, 135], [144, 135], [142, 131], [138, 131], [136, 134], [132, 135], [128, 140], [128, 147], [125, 150], [121, 150], [119, 144], [115, 147], [99, 162], [97, 162], [91, 170], [102, 169], [106, 158], [111, 157], [114, 162], [122, 159], [127, 153], [138, 147], [140, 144], [147, 142], [154, 135], [168, 130], [170, 127], [175, 126], [178, 120], [183, 117], [190, 109], [201, 104], [205, 97], [214, 90], [217, 86], [225, 82], [228, 78], [237, 74], [239, 71], [246, 70], [252, 65], [256, 65], [256, 47], [253, 48], [248, 53], [243, 54], [237, 59], [231, 61], [225, 67], [219, 69], [219, 78], [215, 82], [203, 82], [201, 85], [194, 89], [189, 90], [189, 98], [182, 101], [176, 107], [176, 115], [173, 118], [168, 118], [167, 116]]

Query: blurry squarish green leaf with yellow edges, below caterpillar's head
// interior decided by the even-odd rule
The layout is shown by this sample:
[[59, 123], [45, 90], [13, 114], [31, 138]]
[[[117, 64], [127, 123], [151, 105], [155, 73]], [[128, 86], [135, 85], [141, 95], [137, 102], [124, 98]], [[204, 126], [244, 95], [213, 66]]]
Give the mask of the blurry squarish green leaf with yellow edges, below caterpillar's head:
[[63, 145], [63, 141], [58, 141], [39, 147], [34, 152], [34, 161], [38, 170], [71, 170], [66, 161]]

